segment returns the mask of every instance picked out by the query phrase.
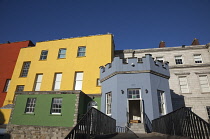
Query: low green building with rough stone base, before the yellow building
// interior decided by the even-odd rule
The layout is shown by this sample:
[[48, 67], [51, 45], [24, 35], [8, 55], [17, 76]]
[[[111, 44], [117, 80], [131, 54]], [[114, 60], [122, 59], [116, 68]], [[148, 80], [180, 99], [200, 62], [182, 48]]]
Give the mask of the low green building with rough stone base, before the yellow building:
[[12, 138], [65, 138], [91, 102], [81, 91], [16, 92], [7, 126]]

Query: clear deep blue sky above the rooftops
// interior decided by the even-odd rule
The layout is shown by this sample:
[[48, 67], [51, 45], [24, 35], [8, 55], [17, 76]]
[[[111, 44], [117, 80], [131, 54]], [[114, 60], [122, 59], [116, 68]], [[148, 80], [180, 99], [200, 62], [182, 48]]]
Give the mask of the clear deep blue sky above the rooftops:
[[0, 43], [114, 34], [117, 50], [210, 42], [210, 0], [0, 0]]

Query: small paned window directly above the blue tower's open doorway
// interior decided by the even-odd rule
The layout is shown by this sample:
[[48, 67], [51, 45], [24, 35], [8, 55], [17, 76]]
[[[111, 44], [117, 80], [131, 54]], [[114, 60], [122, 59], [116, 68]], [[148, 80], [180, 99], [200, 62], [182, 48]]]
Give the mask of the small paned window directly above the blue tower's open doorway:
[[127, 90], [127, 98], [129, 100], [141, 99], [141, 89], [140, 88], [129, 88]]

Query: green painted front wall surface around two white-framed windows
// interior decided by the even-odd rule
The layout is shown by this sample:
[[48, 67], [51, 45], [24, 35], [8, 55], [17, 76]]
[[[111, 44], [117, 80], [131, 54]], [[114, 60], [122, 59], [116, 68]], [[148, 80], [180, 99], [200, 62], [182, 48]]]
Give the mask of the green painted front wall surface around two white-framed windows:
[[[37, 98], [34, 114], [26, 114], [27, 98]], [[61, 115], [50, 114], [52, 98], [63, 98]], [[11, 124], [72, 127], [76, 94], [18, 95]]]

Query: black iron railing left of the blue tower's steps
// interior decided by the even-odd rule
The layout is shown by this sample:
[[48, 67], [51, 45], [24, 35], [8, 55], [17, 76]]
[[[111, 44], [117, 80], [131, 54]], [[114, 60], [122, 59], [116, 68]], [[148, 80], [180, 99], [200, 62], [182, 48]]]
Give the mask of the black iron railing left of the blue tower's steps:
[[116, 120], [92, 107], [65, 139], [89, 139], [96, 135], [114, 133], [116, 133]]

